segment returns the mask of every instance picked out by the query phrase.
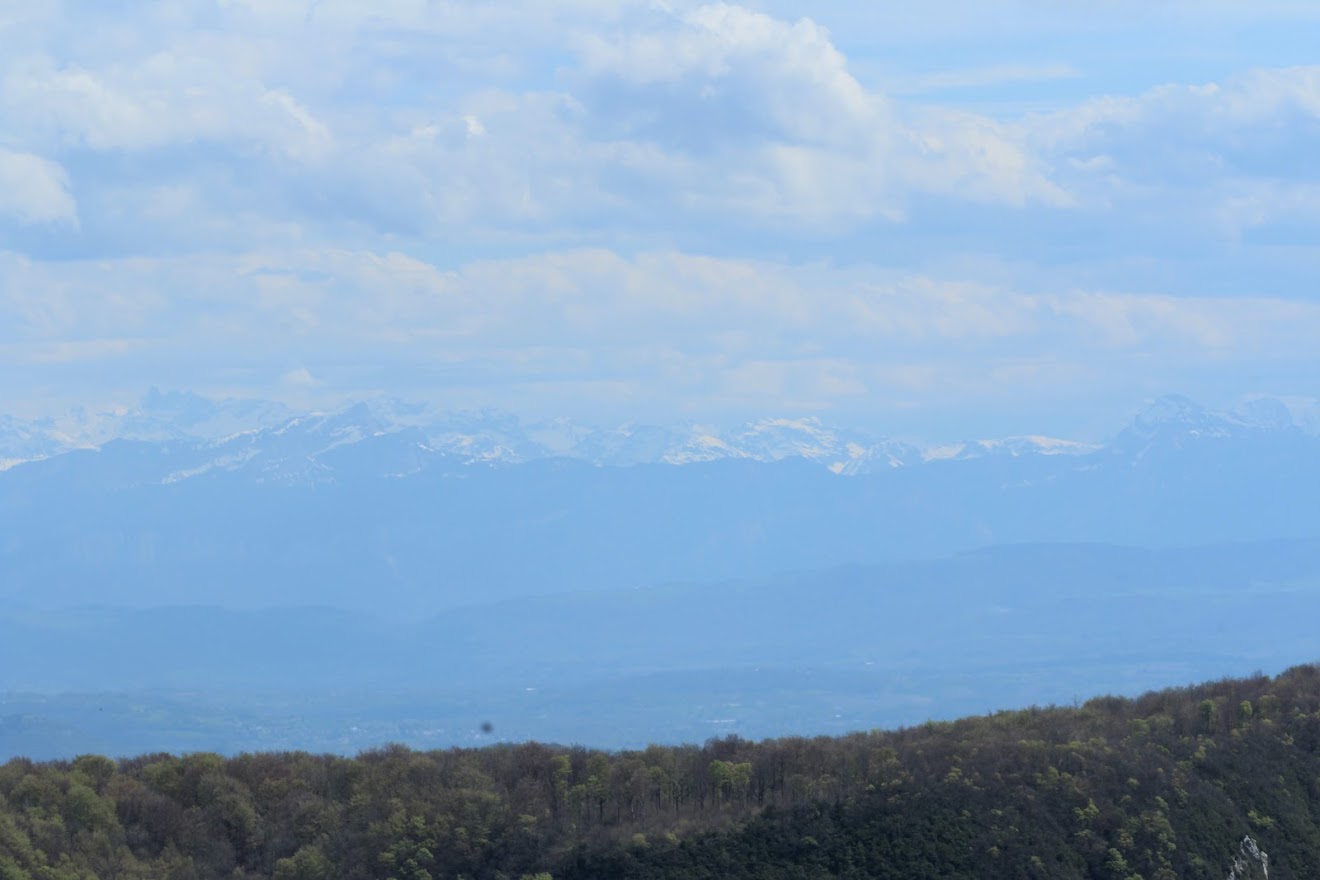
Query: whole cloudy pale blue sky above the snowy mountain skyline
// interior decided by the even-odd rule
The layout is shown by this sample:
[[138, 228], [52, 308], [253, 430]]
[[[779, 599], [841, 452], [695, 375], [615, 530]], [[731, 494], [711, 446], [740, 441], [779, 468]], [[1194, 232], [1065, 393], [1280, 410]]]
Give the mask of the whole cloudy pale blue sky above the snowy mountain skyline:
[[1313, 405], [1316, 46], [1312, 0], [0, 0], [0, 413]]

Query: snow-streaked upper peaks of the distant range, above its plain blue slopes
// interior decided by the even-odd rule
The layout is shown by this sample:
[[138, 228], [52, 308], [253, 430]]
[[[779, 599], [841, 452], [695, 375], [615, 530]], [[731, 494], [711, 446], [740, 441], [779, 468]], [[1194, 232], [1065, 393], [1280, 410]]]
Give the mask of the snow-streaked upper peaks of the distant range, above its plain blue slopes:
[[[1270, 398], [1217, 413], [1185, 397], [1162, 397], [1101, 447], [1043, 435], [913, 445], [816, 417], [762, 418], [733, 427], [693, 422], [595, 427], [565, 418], [524, 422], [492, 409], [446, 412], [388, 397], [297, 414], [268, 401], [152, 389], [136, 406], [120, 410], [75, 409], [37, 421], [0, 417], [0, 470], [71, 450], [136, 442], [168, 447], [168, 455], [158, 456], [158, 472], [149, 476], [161, 483], [242, 471], [256, 483], [310, 486], [345, 475], [407, 476], [436, 466], [513, 466], [553, 458], [598, 467], [800, 459], [855, 476], [941, 462], [1098, 451], [1140, 462], [1205, 443], [1233, 441], [1246, 450], [1312, 439], [1288, 406]], [[139, 467], [133, 472], [143, 479]]]

